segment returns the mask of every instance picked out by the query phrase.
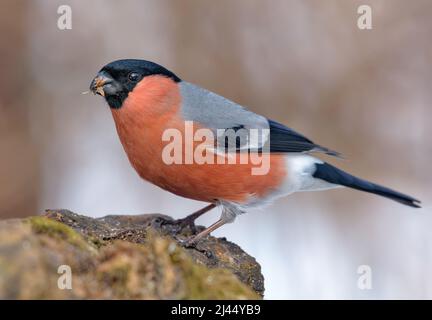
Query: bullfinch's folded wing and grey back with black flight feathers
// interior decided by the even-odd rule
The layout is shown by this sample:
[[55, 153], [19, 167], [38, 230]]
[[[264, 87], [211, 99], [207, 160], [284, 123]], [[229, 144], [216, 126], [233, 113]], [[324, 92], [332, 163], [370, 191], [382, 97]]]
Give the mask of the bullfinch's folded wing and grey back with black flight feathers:
[[321, 147], [294, 130], [194, 84], [180, 82], [182, 115], [213, 131], [218, 147], [270, 152], [337, 152]]

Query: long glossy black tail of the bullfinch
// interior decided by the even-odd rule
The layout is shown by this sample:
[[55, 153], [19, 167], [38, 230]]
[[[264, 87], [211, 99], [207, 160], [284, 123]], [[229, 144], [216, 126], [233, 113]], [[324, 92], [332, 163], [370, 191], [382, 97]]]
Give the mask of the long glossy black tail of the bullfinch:
[[380, 196], [403, 203], [407, 206], [420, 208], [420, 201], [400, 192], [379, 186], [372, 182], [356, 178], [328, 163], [316, 164], [316, 171], [313, 177], [353, 189], [375, 193]]

